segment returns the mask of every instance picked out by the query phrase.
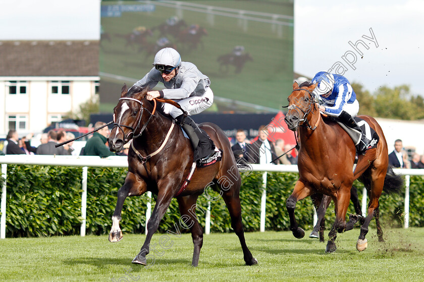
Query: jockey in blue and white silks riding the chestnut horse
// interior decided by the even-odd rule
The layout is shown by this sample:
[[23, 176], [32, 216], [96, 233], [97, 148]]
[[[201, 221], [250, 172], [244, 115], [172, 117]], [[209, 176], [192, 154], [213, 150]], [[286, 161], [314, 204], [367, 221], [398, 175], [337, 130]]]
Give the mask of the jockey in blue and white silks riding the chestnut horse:
[[360, 132], [362, 136], [356, 149], [359, 154], [365, 153], [369, 140], [353, 119], [358, 114], [359, 103], [349, 81], [342, 75], [319, 72], [313, 77], [312, 83], [317, 83], [313, 93], [319, 97], [320, 110]]

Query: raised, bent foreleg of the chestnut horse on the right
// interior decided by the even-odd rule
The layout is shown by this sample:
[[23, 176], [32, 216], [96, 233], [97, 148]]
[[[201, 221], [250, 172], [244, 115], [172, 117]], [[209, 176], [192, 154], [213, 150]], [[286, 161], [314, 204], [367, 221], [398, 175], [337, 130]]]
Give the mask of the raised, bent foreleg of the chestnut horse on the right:
[[303, 236], [305, 236], [305, 232], [303, 231], [303, 229], [298, 227], [296, 218], [294, 217], [296, 202], [304, 199], [310, 194], [311, 194], [310, 189], [305, 186], [304, 182], [301, 179], [299, 179], [296, 182], [296, 185], [294, 186], [293, 193], [290, 195], [290, 197], [286, 201], [286, 208], [290, 216], [290, 230], [293, 233], [293, 236], [296, 237], [297, 239], [303, 238]]

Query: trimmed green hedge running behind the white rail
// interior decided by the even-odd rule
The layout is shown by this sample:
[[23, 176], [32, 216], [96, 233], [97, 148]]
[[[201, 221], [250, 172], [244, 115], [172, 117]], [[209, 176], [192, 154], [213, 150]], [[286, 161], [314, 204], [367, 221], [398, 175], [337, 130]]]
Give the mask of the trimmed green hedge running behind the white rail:
[[[89, 168], [87, 183], [86, 234], [108, 234], [112, 224], [118, 189], [126, 176], [124, 168]], [[7, 179], [7, 237], [41, 237], [52, 235], [78, 235], [81, 227], [82, 168], [64, 166], [8, 165]], [[269, 173], [267, 187], [267, 230], [289, 230], [286, 199], [292, 193], [298, 175], [295, 173]], [[0, 180], [1, 181], [1, 180]], [[242, 174], [240, 191], [242, 218], [245, 231], [258, 231], [262, 173]], [[361, 187], [358, 184], [358, 187]], [[410, 226], [424, 223], [424, 178], [411, 177]], [[361, 190], [358, 191], [362, 195]], [[382, 195], [380, 200], [383, 225], [403, 225], [404, 192], [402, 195]], [[210, 196], [219, 197], [216, 192]], [[361, 197], [361, 196], [360, 196]], [[121, 229], [124, 233], [144, 233], [145, 210], [148, 198], [128, 197], [125, 200]], [[154, 197], [151, 200], [154, 206]], [[204, 226], [207, 209], [205, 195], [197, 201], [199, 222]], [[304, 199], [296, 205], [296, 219], [304, 229], [312, 228], [312, 202]], [[201, 209], [200, 209], [201, 208]], [[211, 232], [231, 232], [230, 215], [223, 199], [211, 201]], [[348, 213], [354, 212], [350, 204]], [[179, 223], [178, 203], [172, 200], [159, 228], [159, 232], [174, 230]], [[327, 227], [334, 222], [334, 204], [326, 214]], [[375, 224], [374, 221], [372, 224]], [[188, 230], [181, 230], [188, 232]]]

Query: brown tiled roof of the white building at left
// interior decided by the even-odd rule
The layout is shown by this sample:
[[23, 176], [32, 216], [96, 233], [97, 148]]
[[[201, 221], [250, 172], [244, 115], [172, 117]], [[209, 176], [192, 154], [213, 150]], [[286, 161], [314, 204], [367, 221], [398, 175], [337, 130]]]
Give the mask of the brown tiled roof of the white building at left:
[[99, 41], [0, 41], [0, 76], [98, 76]]

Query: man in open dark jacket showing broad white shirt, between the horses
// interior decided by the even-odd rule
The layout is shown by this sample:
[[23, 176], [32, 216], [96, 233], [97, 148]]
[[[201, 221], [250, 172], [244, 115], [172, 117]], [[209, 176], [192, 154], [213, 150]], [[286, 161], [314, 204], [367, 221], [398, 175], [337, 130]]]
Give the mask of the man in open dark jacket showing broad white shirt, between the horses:
[[[265, 126], [260, 126], [257, 140], [247, 145], [247, 152], [245, 155], [247, 155], [247, 161], [250, 163], [266, 164], [271, 163], [273, 159], [277, 158], [274, 144], [268, 141], [268, 135], [264, 129]], [[275, 160], [274, 164], [277, 163], [278, 160]]]

